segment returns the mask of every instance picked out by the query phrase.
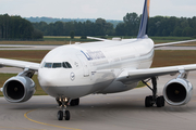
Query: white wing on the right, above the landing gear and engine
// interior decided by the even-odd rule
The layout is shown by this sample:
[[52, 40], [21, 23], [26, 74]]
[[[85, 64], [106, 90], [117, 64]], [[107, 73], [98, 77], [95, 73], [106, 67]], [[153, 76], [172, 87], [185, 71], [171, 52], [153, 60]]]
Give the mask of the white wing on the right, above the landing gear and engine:
[[147, 69], [125, 69], [117, 78], [117, 80], [122, 82], [139, 81], [151, 77], [163, 76], [163, 75], [174, 75], [182, 72], [196, 70], [196, 64], [191, 65], [180, 65], [180, 66], [169, 66], [169, 67], [157, 67]]

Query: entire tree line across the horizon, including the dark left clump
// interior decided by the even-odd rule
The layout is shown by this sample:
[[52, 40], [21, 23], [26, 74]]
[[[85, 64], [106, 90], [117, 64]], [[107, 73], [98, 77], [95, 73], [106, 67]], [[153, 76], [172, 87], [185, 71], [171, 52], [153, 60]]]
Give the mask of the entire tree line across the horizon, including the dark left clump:
[[[42, 36], [137, 36], [142, 15], [127, 13], [117, 27], [103, 18], [95, 22], [30, 23], [21, 16], [0, 15], [0, 39], [41, 39]], [[149, 36], [196, 37], [196, 16], [149, 18]]]

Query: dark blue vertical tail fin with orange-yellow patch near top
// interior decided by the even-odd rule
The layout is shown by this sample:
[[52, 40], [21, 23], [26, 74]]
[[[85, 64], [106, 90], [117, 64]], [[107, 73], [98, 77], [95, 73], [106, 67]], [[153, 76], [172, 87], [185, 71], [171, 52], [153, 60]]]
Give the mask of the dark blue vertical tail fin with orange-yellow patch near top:
[[143, 16], [142, 16], [140, 27], [137, 38], [144, 38], [147, 36], [148, 20], [149, 20], [149, 3], [150, 0], [145, 0]]

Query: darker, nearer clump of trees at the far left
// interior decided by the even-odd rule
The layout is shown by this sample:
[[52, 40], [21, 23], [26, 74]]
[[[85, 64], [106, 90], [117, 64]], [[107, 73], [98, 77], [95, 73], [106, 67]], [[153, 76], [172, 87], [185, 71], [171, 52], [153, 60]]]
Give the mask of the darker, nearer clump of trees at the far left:
[[44, 34], [35, 29], [30, 22], [21, 16], [0, 15], [0, 39], [32, 40], [42, 39]]

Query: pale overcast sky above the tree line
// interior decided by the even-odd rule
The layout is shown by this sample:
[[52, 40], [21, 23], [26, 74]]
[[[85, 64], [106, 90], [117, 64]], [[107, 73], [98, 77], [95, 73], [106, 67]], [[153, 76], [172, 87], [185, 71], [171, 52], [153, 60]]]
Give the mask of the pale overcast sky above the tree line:
[[[22, 17], [123, 20], [142, 14], [144, 0], [0, 0], [0, 14]], [[196, 0], [150, 0], [150, 16], [196, 16]]]

